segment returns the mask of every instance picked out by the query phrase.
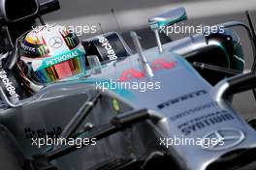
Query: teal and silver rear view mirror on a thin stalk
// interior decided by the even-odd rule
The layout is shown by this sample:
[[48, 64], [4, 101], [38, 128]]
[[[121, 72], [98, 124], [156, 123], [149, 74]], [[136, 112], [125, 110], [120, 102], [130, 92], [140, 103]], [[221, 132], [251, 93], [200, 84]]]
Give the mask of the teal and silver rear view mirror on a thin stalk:
[[148, 19], [148, 22], [151, 29], [159, 30], [162, 27], [169, 26], [186, 19], [186, 11], [184, 8], [181, 7], [176, 10], [166, 12], [164, 14], [153, 16]]

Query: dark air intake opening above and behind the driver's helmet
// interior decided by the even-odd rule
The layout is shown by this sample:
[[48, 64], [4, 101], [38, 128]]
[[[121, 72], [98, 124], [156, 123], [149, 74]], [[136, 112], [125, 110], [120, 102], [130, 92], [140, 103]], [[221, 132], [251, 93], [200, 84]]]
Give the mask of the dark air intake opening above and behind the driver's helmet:
[[1, 20], [7, 23], [37, 16], [39, 12], [38, 0], [2, 0], [0, 4]]

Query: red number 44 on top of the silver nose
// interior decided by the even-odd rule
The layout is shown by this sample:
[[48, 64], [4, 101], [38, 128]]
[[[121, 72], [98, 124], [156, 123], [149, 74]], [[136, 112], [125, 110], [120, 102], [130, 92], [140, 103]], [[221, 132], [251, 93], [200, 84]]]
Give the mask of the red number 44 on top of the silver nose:
[[[163, 59], [157, 59], [151, 64], [153, 71], [171, 70], [176, 67], [176, 62], [168, 62]], [[144, 78], [144, 71], [136, 71], [134, 69], [126, 70], [121, 73], [120, 81], [129, 81], [133, 78]]]

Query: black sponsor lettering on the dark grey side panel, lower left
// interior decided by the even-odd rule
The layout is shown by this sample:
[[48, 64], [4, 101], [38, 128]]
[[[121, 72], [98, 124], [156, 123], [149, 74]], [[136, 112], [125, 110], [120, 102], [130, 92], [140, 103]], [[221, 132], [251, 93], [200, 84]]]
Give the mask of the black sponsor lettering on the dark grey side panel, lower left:
[[25, 137], [27, 139], [33, 139], [33, 138], [57, 138], [60, 136], [62, 132], [62, 128], [60, 127], [53, 127], [50, 130], [47, 130], [46, 128], [38, 128], [38, 129], [32, 129], [32, 128], [24, 128]]

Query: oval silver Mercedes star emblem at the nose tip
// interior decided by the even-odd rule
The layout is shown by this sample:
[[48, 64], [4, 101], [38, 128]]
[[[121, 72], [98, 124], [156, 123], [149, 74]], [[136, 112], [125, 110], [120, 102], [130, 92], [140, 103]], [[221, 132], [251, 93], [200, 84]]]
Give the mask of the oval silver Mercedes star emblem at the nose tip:
[[216, 142], [209, 143], [208, 147], [202, 144], [202, 148], [208, 151], [223, 151], [238, 146], [245, 138], [244, 133], [237, 128], [221, 128], [210, 131], [203, 137], [206, 139], [216, 139]]

